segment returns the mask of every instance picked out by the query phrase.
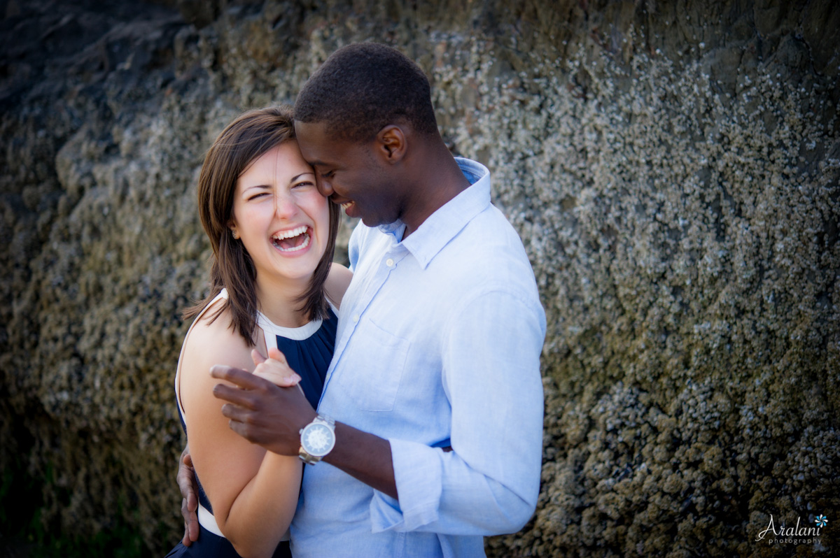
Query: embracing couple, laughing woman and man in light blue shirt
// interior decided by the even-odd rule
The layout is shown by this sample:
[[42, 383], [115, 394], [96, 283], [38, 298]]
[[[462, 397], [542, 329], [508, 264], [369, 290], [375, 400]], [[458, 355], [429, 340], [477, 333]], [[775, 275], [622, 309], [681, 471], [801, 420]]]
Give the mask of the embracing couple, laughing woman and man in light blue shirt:
[[[176, 374], [186, 533], [170, 556], [483, 556], [484, 535], [521, 529], [545, 317], [423, 71], [381, 44], [337, 50], [293, 118], [224, 129], [198, 190], [214, 258]], [[332, 263], [340, 207], [362, 221], [350, 269]]]

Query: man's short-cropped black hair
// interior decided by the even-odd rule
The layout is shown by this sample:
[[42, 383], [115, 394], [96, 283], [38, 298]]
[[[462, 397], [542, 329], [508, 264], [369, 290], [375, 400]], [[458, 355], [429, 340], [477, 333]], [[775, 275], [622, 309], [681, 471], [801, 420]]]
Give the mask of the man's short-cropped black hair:
[[401, 120], [419, 133], [438, 133], [423, 70], [399, 50], [376, 43], [333, 52], [297, 95], [295, 119], [326, 123], [334, 138], [353, 142], [370, 141]]

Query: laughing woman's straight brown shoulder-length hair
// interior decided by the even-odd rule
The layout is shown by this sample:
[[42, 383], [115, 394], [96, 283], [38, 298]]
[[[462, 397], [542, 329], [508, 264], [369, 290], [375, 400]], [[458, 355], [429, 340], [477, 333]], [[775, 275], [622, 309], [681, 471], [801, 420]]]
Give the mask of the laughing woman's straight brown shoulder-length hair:
[[[256, 344], [256, 268], [242, 242], [234, 239], [228, 227], [233, 218], [236, 182], [256, 159], [294, 138], [291, 107], [266, 107], [244, 112], [224, 128], [207, 150], [198, 177], [198, 214], [213, 247], [210, 294], [197, 305], [184, 310], [184, 319], [197, 316], [219, 291], [228, 289], [228, 300], [209, 319], [212, 323], [224, 310], [230, 310], [231, 326], [250, 346]], [[312, 274], [309, 289], [299, 299], [302, 304], [299, 310], [309, 320], [328, 316], [323, 285], [333, 261], [335, 236], [339, 230], [339, 206], [329, 200], [327, 203], [327, 248]]]

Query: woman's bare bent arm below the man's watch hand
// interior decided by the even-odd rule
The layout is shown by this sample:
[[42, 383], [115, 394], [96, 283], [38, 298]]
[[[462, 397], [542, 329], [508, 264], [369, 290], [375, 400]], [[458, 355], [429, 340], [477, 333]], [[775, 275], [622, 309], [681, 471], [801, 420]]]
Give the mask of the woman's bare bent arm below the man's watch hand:
[[209, 370], [218, 362], [255, 368], [250, 347], [228, 324], [223, 314], [193, 327], [181, 362], [181, 404], [193, 466], [219, 529], [239, 555], [270, 556], [297, 507], [302, 463], [265, 451], [228, 427], [213, 397], [218, 380]]

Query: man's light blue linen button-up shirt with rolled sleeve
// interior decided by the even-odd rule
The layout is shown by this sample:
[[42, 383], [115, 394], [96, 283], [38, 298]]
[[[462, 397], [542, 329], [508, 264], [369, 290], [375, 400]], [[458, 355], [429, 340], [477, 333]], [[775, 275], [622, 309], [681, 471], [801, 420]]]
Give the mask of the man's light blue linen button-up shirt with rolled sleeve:
[[483, 556], [484, 535], [533, 514], [545, 314], [490, 173], [458, 164], [472, 185], [405, 240], [401, 222], [354, 230], [318, 405], [390, 441], [399, 501], [328, 463], [306, 467], [295, 558]]

